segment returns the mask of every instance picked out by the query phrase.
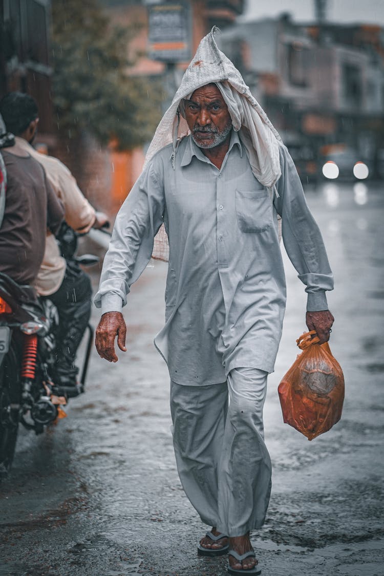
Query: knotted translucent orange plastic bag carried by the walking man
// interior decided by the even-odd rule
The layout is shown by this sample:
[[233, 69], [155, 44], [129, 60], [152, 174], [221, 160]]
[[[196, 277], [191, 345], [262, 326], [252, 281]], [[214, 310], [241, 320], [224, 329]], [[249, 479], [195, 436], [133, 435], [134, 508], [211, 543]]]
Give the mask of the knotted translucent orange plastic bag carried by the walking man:
[[339, 422], [344, 400], [344, 376], [339, 362], [313, 330], [297, 345], [303, 352], [279, 384], [283, 420], [313, 440]]

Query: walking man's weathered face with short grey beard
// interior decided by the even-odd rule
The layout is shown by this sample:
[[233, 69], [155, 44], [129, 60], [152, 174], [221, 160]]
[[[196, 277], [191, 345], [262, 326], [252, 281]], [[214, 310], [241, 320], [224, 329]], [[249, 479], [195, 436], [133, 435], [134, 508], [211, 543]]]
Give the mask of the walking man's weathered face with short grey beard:
[[197, 88], [191, 100], [185, 100], [185, 120], [193, 141], [200, 148], [219, 146], [232, 128], [228, 107], [214, 84]]

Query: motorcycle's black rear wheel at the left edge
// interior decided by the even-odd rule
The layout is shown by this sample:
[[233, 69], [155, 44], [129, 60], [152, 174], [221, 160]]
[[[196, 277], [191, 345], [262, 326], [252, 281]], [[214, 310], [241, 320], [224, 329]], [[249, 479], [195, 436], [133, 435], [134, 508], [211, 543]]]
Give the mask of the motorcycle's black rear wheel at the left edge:
[[11, 343], [0, 366], [0, 482], [9, 472], [16, 448], [18, 410], [15, 406], [21, 402], [19, 366], [17, 351]]

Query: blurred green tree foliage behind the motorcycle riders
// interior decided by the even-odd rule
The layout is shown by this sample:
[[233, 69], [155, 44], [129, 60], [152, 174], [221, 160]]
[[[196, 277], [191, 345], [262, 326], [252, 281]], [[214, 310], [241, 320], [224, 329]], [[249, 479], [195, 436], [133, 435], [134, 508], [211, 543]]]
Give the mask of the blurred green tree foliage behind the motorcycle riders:
[[58, 127], [131, 149], [152, 137], [160, 90], [128, 74], [133, 26], [113, 26], [97, 0], [52, 1], [53, 98]]

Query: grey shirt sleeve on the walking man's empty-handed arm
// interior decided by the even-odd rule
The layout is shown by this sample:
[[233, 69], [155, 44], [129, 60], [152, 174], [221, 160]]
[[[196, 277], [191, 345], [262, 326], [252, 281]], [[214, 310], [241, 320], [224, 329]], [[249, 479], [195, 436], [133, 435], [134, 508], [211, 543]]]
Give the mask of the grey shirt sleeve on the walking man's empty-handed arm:
[[130, 286], [151, 258], [164, 211], [164, 176], [161, 169], [155, 169], [153, 161], [136, 181], [116, 217], [94, 298], [103, 314], [120, 311], [126, 305]]

